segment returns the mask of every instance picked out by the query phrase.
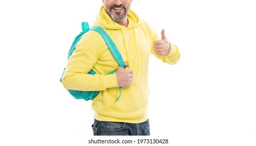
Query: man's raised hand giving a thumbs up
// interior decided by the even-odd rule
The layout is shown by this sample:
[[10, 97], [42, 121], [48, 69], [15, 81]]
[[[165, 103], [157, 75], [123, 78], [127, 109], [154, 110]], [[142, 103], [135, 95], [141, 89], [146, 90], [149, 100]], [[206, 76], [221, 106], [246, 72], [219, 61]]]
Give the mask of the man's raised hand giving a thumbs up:
[[171, 51], [170, 42], [167, 40], [165, 36], [165, 30], [163, 29], [161, 31], [161, 40], [154, 41], [154, 51], [156, 52], [156, 55], [159, 56], [168, 56], [168, 54]]

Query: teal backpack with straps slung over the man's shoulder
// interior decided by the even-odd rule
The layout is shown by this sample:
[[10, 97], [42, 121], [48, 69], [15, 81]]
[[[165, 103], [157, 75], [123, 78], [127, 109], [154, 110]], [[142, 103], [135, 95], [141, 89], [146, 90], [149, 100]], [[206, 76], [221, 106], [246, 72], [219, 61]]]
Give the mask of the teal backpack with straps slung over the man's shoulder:
[[[112, 53], [114, 59], [119, 63], [119, 65], [121, 67], [125, 68], [125, 64], [124, 64], [123, 58], [122, 58], [120, 52], [118, 51], [117, 46], [115, 46], [114, 42], [111, 40], [111, 38], [106, 33], [106, 31], [104, 31], [101, 27], [98, 27], [98, 26], [92, 27], [91, 29], [89, 29], [88, 22], [82, 22], [82, 32], [80, 32], [80, 34], [78, 34], [76, 36], [76, 38], [74, 39], [71, 47], [69, 48], [67, 59], [72, 55], [73, 51], [76, 49], [76, 44], [80, 41], [80, 39], [82, 38], [83, 34], [85, 34], [87, 31], [96, 31], [96, 32], [98, 32], [102, 36], [102, 38], [104, 39], [105, 43], [107, 44], [107, 46], [109, 48], [109, 51]], [[109, 72], [109, 74], [114, 74], [115, 71], [117, 71], [117, 70]], [[63, 74], [64, 74], [64, 72], [65, 72], [65, 68], [64, 68]], [[63, 74], [62, 74], [62, 77], [63, 77]], [[96, 72], [91, 69], [88, 72], [88, 74], [95, 75]], [[61, 82], [62, 82], [62, 77], [60, 79]], [[120, 90], [122, 92], [122, 87], [120, 87]], [[77, 91], [77, 90], [69, 90], [69, 89], [67, 89], [67, 91], [75, 99], [84, 99], [86, 101], [93, 100], [99, 94], [99, 92], [100, 92], [100, 91]], [[121, 96], [121, 93], [117, 97], [116, 101], [119, 100], [120, 96]]]

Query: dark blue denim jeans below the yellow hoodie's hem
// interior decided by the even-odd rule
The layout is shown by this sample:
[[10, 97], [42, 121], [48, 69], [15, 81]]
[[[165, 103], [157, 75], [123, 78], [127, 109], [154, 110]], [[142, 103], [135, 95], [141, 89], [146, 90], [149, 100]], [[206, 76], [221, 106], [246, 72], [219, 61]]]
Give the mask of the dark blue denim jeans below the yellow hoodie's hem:
[[131, 124], [122, 122], [99, 121], [94, 119], [91, 125], [94, 136], [149, 136], [149, 120]]

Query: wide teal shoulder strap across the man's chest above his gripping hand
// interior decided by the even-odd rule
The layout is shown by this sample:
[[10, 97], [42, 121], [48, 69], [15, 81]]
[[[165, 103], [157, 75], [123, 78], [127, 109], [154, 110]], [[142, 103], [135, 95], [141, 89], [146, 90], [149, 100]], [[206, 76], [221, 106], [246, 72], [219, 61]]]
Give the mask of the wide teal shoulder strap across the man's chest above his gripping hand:
[[104, 39], [104, 41], [106, 42], [107, 46], [109, 47], [109, 50], [112, 53], [112, 55], [115, 58], [115, 60], [118, 62], [118, 64], [121, 67], [125, 68], [125, 64], [124, 64], [123, 58], [122, 58], [122, 56], [121, 56], [117, 46], [115, 46], [114, 42], [109, 37], [108, 33], [106, 31], [104, 31], [99, 26], [93, 27], [90, 30], [96, 31], [96, 32], [98, 32], [102, 36], [102, 38]]

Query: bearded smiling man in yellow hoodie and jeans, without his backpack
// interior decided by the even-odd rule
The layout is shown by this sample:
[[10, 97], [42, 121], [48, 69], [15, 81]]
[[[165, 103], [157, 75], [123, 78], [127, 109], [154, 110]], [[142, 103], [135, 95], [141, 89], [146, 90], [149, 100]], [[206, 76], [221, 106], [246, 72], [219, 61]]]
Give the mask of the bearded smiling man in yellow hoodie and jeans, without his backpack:
[[[88, 31], [69, 57], [62, 83], [66, 89], [101, 91], [92, 101], [94, 135], [150, 135], [147, 117], [150, 53], [168, 64], [180, 58], [165, 31], [161, 37], [130, 9], [132, 0], [102, 0], [94, 26], [117, 45], [126, 68], [115, 61], [101, 35]], [[93, 69], [97, 74], [89, 75]], [[116, 70], [115, 74], [106, 75]], [[123, 87], [122, 93], [119, 87]], [[118, 95], [120, 99], [116, 101]]]

